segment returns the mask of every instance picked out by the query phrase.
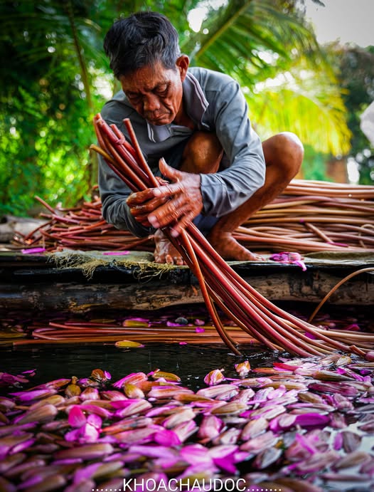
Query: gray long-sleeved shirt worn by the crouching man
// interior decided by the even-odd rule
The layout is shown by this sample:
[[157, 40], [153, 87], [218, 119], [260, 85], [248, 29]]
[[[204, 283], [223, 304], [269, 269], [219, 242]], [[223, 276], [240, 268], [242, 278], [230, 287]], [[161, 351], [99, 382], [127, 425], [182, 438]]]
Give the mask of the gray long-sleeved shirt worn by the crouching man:
[[[183, 81], [183, 103], [198, 130], [215, 132], [223, 147], [220, 170], [201, 174], [201, 194], [204, 215], [226, 215], [247, 201], [265, 182], [262, 144], [250, 123], [247, 103], [233, 78], [198, 67], [188, 69]], [[193, 133], [173, 123], [150, 125], [132, 108], [122, 90], [105, 104], [101, 114], [125, 136], [123, 120], [130, 119], [144, 157], [155, 174], [159, 159], [170, 155]], [[105, 220], [117, 229], [129, 229], [136, 236], [152, 234], [154, 229], [141, 226], [129, 213], [126, 199], [130, 190], [101, 156], [99, 159], [99, 188]]]

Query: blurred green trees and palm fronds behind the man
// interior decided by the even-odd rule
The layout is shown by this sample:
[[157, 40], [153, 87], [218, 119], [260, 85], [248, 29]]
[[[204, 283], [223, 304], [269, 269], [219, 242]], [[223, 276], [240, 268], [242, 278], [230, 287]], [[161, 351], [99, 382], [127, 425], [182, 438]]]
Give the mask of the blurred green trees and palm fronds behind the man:
[[3, 0], [2, 214], [36, 213], [35, 195], [52, 206], [90, 199], [92, 117], [119, 89], [102, 41], [114, 19], [141, 9], [171, 19], [192, 66], [240, 82], [263, 140], [284, 130], [299, 135], [306, 149], [299, 177], [344, 182], [353, 162], [358, 182], [373, 184], [360, 114], [374, 100], [374, 46], [319, 45], [303, 0]]

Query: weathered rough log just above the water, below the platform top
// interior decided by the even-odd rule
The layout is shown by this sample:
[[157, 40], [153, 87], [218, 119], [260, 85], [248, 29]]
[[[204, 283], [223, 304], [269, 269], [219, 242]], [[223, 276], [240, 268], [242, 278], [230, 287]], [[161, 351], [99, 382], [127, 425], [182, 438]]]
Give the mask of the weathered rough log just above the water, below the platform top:
[[[310, 272], [307, 276], [284, 271], [272, 276], [254, 274], [245, 279], [272, 301], [319, 303], [341, 277], [321, 271]], [[370, 305], [373, 300], [373, 275], [363, 274], [344, 283], [329, 302]], [[154, 310], [169, 305], [202, 302], [201, 291], [194, 283], [171, 284], [168, 280], [157, 279], [135, 283], [18, 283], [3, 285], [0, 289], [0, 308], [6, 310], [56, 309], [82, 313], [103, 309]]]

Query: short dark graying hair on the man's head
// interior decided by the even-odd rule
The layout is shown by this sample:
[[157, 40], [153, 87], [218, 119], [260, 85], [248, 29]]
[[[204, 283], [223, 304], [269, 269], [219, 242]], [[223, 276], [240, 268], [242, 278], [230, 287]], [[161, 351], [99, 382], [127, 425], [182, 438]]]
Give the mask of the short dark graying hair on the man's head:
[[158, 61], [164, 68], [176, 68], [181, 55], [176, 28], [167, 17], [149, 11], [115, 21], [105, 36], [104, 50], [117, 78]]

